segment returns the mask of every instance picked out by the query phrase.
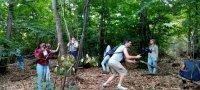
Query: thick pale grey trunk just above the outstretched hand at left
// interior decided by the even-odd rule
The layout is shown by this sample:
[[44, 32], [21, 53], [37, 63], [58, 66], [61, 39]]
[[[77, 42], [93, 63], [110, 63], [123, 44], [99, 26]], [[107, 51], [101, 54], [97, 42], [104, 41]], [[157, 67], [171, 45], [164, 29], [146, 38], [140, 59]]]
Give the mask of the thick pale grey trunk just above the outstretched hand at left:
[[60, 43], [60, 55], [65, 56], [66, 50], [64, 47], [64, 43], [63, 43], [61, 23], [60, 23], [60, 17], [58, 15], [58, 10], [56, 7], [56, 5], [57, 5], [56, 1], [57, 0], [52, 0], [52, 6], [53, 6], [53, 13], [54, 13], [55, 21], [56, 21], [57, 39], [58, 39], [58, 42]]

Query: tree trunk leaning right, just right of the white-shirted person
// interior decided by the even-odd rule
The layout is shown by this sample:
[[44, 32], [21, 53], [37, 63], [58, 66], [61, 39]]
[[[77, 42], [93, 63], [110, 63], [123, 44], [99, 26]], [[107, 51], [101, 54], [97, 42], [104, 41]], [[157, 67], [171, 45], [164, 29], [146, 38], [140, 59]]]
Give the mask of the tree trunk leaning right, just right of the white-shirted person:
[[82, 31], [81, 40], [80, 40], [80, 47], [79, 47], [79, 51], [78, 51], [78, 63], [77, 64], [79, 64], [80, 59], [83, 57], [84, 36], [86, 34], [86, 31], [87, 31], [88, 14], [89, 14], [89, 0], [86, 0], [85, 8], [84, 8], [83, 31]]

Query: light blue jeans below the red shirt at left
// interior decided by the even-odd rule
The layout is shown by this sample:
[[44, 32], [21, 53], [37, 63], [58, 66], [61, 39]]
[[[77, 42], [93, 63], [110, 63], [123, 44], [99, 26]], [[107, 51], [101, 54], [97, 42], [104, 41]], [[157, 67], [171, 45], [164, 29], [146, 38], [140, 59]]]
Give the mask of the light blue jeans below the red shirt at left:
[[44, 88], [42, 87], [42, 78], [46, 75], [46, 83], [47, 83], [47, 87], [48, 90], [52, 90], [52, 84], [51, 84], [51, 80], [50, 80], [50, 71], [49, 71], [49, 65], [41, 65], [37, 63], [36, 66], [36, 70], [37, 70], [37, 75], [38, 75], [38, 81], [37, 81], [37, 86], [38, 86], [38, 90], [44, 90]]

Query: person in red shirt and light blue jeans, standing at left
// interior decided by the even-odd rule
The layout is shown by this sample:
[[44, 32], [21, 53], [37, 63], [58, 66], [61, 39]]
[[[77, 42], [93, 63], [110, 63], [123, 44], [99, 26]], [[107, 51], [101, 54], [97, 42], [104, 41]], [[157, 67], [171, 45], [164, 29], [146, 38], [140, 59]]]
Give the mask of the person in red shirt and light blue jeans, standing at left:
[[36, 71], [38, 76], [37, 86], [38, 90], [43, 90], [42, 88], [42, 78], [44, 77], [44, 81], [48, 84], [48, 90], [52, 89], [51, 80], [50, 80], [50, 73], [49, 70], [49, 56], [50, 50], [46, 49], [45, 43], [40, 43], [39, 48], [34, 51], [34, 55], [36, 58]]

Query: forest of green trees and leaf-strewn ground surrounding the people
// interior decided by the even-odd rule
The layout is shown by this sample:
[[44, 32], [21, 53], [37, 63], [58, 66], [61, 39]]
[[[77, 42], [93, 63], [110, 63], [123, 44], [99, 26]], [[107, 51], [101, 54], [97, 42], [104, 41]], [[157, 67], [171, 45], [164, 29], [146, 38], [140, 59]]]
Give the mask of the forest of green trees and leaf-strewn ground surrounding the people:
[[[136, 56], [151, 39], [159, 51], [157, 74], [147, 74], [145, 53], [134, 64], [123, 63], [128, 75], [122, 85], [128, 90], [183, 90], [177, 76], [184, 56], [200, 58], [199, 6], [199, 0], [0, 0], [0, 90], [39, 90], [34, 62], [41, 42], [52, 49], [59, 46], [49, 65], [50, 90], [101, 90], [112, 75], [102, 74], [105, 42], [114, 48], [130, 40], [128, 52]], [[68, 47], [73, 37], [76, 58]], [[112, 81], [106, 90], [117, 83]], [[42, 90], [49, 90], [47, 84], [42, 83]], [[193, 81], [189, 86], [186, 90], [200, 88]]]

